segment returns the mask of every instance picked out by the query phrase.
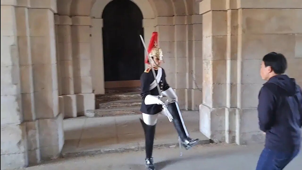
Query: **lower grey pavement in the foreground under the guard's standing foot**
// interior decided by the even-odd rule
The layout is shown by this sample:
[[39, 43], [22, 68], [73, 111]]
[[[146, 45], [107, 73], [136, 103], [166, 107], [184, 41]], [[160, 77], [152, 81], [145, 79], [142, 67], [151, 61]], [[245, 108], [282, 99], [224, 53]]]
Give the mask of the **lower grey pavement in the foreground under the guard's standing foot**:
[[[255, 170], [263, 145], [198, 145], [179, 156], [176, 148], [155, 149], [158, 170]], [[144, 170], [144, 151], [56, 159], [26, 170]], [[300, 170], [300, 153], [284, 170]]]

